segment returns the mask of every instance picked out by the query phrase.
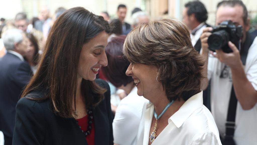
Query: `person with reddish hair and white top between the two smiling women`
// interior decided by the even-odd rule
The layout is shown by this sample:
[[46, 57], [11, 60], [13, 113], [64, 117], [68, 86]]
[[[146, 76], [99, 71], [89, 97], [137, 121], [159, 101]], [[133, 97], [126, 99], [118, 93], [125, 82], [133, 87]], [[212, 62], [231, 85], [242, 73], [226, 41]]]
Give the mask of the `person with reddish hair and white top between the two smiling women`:
[[108, 66], [103, 67], [102, 72], [107, 80], [127, 94], [118, 105], [113, 120], [114, 144], [135, 145], [143, 105], [149, 101], [137, 95], [133, 78], [125, 74], [129, 66], [122, 54], [125, 38], [121, 35], [110, 40], [105, 49]]

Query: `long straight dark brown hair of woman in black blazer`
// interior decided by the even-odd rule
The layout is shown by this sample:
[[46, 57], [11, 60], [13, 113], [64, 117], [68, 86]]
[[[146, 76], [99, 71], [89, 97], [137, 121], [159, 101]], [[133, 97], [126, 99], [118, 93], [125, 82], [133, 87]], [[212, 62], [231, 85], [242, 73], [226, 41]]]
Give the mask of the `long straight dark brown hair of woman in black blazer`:
[[[73, 105], [76, 104], [80, 52], [85, 43], [102, 31], [110, 32], [108, 22], [82, 7], [71, 8], [60, 15], [50, 30], [38, 70], [22, 97], [36, 101], [49, 98], [56, 115], [76, 117]], [[45, 91], [45, 96], [28, 95], [34, 90]], [[82, 80], [81, 93], [87, 107], [99, 103], [105, 91], [95, 82]]]

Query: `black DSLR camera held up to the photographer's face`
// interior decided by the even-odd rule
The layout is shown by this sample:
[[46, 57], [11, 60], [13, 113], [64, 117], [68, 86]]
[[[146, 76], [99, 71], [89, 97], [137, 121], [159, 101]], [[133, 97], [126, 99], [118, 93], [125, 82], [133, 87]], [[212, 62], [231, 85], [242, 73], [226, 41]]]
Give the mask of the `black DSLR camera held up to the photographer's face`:
[[235, 26], [232, 21], [223, 21], [219, 26], [213, 27], [212, 35], [208, 38], [209, 50], [222, 49], [225, 53], [233, 52], [228, 46], [228, 41], [231, 41], [240, 50], [240, 39], [243, 36], [242, 26]]

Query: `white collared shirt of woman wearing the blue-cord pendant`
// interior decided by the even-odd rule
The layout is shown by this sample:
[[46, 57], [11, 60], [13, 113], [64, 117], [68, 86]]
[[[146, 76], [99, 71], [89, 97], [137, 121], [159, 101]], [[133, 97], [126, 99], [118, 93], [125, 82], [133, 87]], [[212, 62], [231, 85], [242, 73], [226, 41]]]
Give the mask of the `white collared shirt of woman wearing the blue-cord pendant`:
[[[148, 145], [154, 106], [144, 107], [137, 145]], [[203, 91], [190, 97], [168, 120], [152, 145], [221, 145], [212, 114], [203, 105]], [[158, 124], [157, 124], [158, 125]]]

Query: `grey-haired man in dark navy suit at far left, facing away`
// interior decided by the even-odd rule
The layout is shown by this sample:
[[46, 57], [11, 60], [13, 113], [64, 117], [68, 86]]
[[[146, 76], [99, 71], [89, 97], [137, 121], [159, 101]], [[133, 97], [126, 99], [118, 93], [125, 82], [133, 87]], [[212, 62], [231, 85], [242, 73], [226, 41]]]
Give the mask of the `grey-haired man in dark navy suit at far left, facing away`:
[[0, 130], [5, 145], [12, 144], [15, 107], [31, 77], [30, 66], [24, 61], [28, 40], [22, 30], [10, 29], [3, 35], [7, 53], [0, 58]]

